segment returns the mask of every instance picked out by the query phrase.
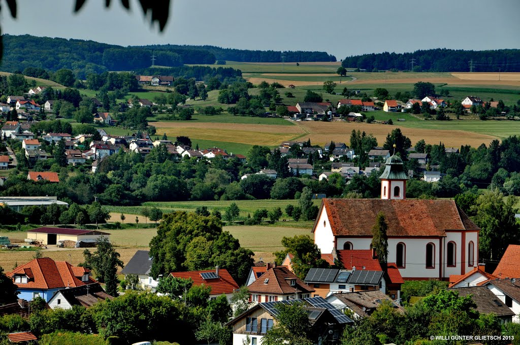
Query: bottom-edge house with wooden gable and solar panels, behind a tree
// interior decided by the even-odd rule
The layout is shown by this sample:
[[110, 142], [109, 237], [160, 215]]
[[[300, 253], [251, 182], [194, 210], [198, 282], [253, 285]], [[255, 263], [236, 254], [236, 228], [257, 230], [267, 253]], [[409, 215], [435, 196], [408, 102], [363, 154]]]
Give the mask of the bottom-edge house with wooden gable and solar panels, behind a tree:
[[262, 338], [277, 324], [277, 304], [298, 303], [305, 308], [308, 319], [308, 337], [313, 344], [338, 344], [343, 328], [354, 321], [321, 297], [281, 300], [255, 304], [226, 324], [233, 332], [233, 345], [262, 344]]

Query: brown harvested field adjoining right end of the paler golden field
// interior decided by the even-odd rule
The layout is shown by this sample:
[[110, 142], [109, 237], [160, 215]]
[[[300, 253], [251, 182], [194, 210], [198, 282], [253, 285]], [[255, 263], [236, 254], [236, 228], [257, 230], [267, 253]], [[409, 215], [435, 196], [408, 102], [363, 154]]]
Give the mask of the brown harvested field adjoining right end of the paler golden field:
[[401, 128], [404, 135], [410, 138], [412, 143], [415, 143], [421, 139], [424, 139], [427, 143], [439, 143], [443, 142], [447, 147], [460, 147], [463, 144], [471, 145], [472, 147], [478, 147], [482, 143], [488, 144], [491, 140], [497, 139], [494, 136], [464, 131], [464, 130], [446, 130], [446, 129], [422, 129], [422, 128], [405, 128], [399, 127], [398, 125], [379, 125], [379, 124], [367, 124], [367, 123], [353, 123], [353, 122], [316, 122], [316, 121], [305, 121], [301, 122], [301, 126], [304, 127], [308, 135], [303, 136], [298, 140], [307, 140], [313, 144], [326, 144], [331, 140], [335, 142], [349, 142], [350, 132], [353, 129], [367, 132], [372, 134], [378, 143], [382, 145], [385, 142], [386, 135], [395, 128]]

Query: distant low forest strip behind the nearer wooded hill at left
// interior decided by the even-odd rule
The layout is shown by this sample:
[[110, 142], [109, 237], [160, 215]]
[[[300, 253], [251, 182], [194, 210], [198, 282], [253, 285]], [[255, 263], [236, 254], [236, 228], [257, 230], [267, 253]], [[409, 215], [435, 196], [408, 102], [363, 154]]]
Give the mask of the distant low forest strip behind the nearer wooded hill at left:
[[[221, 48], [216, 46], [179, 46], [179, 45], [151, 45], [140, 48], [161, 49], [168, 51], [184, 49], [203, 49], [211, 52], [216, 60], [229, 60], [240, 62], [282, 62], [282, 52], [276, 50], [248, 50]], [[336, 61], [336, 57], [325, 51], [284, 51], [285, 62], [306, 62], [306, 61]], [[185, 63], [196, 63], [186, 62]]]

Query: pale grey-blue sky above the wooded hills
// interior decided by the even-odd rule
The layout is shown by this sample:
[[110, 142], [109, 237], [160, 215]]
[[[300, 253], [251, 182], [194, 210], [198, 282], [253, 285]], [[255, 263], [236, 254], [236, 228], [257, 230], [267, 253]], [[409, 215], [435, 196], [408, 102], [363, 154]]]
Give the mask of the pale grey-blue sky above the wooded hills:
[[2, 32], [92, 39], [127, 45], [191, 44], [238, 49], [319, 50], [338, 60], [371, 52], [520, 48], [518, 0], [172, 0], [165, 30], [140, 5], [106, 9], [89, 0], [18, 0], [18, 18], [2, 3]]

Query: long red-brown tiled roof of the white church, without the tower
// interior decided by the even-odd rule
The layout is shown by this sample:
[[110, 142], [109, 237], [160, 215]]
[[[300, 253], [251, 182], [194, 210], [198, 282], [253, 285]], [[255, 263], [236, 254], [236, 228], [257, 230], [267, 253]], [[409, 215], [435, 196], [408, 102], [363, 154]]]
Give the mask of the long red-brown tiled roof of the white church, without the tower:
[[[446, 230], [479, 230], [453, 200], [323, 199], [335, 236], [370, 236], [382, 211], [388, 236], [446, 236]], [[318, 224], [314, 225], [313, 232]]]

